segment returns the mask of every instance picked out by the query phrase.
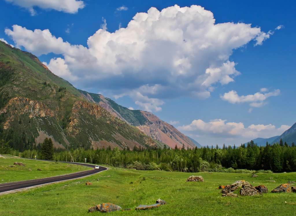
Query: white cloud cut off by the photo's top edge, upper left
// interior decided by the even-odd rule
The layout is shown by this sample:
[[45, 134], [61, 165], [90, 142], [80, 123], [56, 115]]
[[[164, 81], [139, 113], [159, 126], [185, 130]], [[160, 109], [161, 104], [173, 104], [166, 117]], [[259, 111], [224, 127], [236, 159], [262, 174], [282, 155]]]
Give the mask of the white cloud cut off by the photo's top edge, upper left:
[[18, 5], [28, 9], [32, 16], [36, 15], [36, 11], [33, 7], [37, 6], [42, 9], [54, 9], [65, 13], [77, 13], [78, 9], [84, 8], [83, 1], [77, 0], [5, 0], [12, 4]]

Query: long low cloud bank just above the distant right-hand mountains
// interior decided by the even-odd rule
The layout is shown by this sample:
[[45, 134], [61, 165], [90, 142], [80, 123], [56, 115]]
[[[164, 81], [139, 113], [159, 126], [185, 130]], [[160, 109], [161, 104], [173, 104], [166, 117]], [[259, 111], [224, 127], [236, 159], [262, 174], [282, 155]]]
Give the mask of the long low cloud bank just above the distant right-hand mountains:
[[204, 122], [201, 119], [198, 119], [192, 121], [189, 125], [177, 127], [177, 129], [181, 132], [190, 132], [190, 136], [192, 137], [199, 137], [199, 142], [207, 142], [204, 143], [204, 145], [221, 145], [225, 141], [229, 141], [227, 144], [240, 145], [241, 143], [258, 137], [269, 138], [281, 135], [291, 127], [288, 125], [281, 125], [281, 127], [276, 128], [272, 124], [251, 124], [250, 126], [245, 127], [242, 122], [226, 123], [226, 121], [227, 120], [214, 119], [210, 122]]

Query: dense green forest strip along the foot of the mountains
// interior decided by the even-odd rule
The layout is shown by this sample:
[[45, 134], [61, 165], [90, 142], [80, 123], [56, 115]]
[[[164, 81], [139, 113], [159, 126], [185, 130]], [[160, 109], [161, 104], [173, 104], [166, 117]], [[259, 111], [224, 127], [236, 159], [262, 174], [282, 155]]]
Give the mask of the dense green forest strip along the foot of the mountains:
[[[46, 142], [44, 142], [46, 143]], [[44, 144], [35, 145], [32, 149], [22, 153], [7, 148], [8, 144], [0, 142], [0, 153], [25, 158], [44, 158]], [[2, 151], [1, 151], [2, 149]], [[4, 152], [3, 150], [6, 149]], [[180, 172], [242, 172], [247, 170], [271, 170], [272, 172], [295, 172], [296, 171], [296, 147], [280, 141], [266, 146], [258, 146], [253, 141], [242, 144], [239, 147], [218, 145], [203, 148], [134, 148], [120, 151], [118, 147], [107, 149], [77, 148], [70, 150], [55, 149], [53, 159], [56, 161], [87, 162], [93, 164], [105, 164], [114, 167], [124, 167], [142, 170], [160, 169]]]

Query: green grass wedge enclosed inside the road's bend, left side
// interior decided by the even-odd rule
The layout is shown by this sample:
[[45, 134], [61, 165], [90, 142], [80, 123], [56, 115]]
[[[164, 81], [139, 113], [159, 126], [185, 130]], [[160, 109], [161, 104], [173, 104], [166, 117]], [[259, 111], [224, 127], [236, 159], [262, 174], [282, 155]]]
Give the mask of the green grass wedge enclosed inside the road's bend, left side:
[[[91, 169], [75, 164], [4, 157], [5, 159], [0, 157], [0, 183], [52, 177]], [[9, 167], [9, 165], [13, 166], [14, 162], [22, 162], [26, 166], [15, 165], [15, 167]]]

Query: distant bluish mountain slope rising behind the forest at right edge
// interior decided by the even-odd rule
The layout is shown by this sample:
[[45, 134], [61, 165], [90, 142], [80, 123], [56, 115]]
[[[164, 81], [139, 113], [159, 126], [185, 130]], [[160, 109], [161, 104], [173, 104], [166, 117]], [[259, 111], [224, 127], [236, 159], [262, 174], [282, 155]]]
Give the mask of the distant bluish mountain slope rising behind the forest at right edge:
[[279, 143], [281, 139], [283, 143], [286, 142], [288, 145], [292, 145], [292, 143], [296, 144], [296, 123], [280, 136], [270, 138], [256, 138], [253, 141], [254, 143], [257, 143], [258, 146], [265, 146], [266, 142], [272, 145], [274, 143]]

